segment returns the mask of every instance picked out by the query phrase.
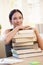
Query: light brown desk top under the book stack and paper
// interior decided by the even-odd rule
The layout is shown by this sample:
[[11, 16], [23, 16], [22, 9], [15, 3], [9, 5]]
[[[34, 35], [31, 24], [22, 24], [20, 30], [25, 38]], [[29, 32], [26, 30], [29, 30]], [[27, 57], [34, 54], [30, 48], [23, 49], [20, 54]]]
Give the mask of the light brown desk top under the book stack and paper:
[[[8, 65], [30, 65], [29, 63], [34, 62], [34, 61], [38, 61], [38, 62], [40, 62], [39, 65], [43, 65], [43, 56], [31, 57], [31, 58], [23, 58], [23, 59], [24, 59], [23, 62], [8, 64]], [[7, 64], [2, 64], [2, 65], [7, 65]]]

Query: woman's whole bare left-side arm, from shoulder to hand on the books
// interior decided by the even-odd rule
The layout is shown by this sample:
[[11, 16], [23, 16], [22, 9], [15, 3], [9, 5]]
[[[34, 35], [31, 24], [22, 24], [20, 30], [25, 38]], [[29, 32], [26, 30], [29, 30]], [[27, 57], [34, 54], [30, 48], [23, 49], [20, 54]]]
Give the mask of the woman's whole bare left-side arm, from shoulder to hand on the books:
[[17, 31], [19, 31], [20, 29], [24, 29], [24, 28], [25, 28], [24, 26], [17, 26], [12, 31], [6, 30], [5, 31], [5, 43], [9, 44], [9, 42], [15, 36], [15, 34], [17, 33]]

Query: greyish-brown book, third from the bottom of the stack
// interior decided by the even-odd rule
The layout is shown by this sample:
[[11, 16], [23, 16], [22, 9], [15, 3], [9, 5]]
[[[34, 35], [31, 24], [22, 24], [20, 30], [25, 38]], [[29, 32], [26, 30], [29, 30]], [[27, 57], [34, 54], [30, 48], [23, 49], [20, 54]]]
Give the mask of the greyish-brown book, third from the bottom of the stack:
[[37, 43], [32, 43], [32, 44], [27, 44], [25, 45], [18, 45], [18, 44], [14, 44], [13, 48], [15, 50], [23, 50], [23, 49], [38, 49], [38, 44]]

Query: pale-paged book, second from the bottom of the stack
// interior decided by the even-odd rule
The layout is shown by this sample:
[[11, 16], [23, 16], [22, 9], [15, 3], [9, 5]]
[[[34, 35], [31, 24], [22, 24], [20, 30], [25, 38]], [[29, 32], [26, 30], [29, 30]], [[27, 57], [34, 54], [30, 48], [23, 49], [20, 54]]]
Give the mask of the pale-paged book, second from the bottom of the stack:
[[31, 53], [40, 53], [42, 52], [40, 48], [38, 49], [22, 49], [22, 50], [16, 50], [17, 54], [24, 55], [24, 54], [31, 54]]

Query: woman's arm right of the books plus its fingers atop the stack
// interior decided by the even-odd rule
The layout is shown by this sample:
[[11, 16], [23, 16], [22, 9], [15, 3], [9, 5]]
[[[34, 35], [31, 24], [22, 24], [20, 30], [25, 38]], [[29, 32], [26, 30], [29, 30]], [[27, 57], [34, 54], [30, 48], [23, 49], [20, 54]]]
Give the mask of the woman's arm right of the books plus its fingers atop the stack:
[[[25, 29], [29, 30], [29, 29], [33, 29], [32, 27], [30, 26], [27, 26]], [[43, 39], [41, 38], [40, 36], [40, 33], [38, 31], [37, 28], [34, 28], [34, 32], [36, 34], [36, 37], [37, 37], [37, 42], [38, 42], [38, 45], [40, 46], [40, 48], [43, 50]]]

